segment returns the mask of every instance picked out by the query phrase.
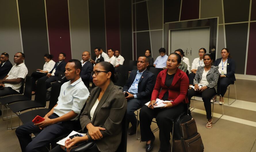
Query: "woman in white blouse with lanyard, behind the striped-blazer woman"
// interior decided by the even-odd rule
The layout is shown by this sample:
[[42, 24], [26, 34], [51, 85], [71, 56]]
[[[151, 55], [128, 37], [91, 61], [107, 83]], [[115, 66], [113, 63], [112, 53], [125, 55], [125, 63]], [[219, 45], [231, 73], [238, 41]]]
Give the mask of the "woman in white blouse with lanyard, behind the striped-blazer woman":
[[188, 75], [189, 85], [193, 85], [193, 80], [196, 75], [196, 71], [198, 67], [205, 66], [203, 57], [206, 53], [205, 48], [200, 48], [198, 51], [199, 58], [194, 59], [191, 65], [191, 73]]

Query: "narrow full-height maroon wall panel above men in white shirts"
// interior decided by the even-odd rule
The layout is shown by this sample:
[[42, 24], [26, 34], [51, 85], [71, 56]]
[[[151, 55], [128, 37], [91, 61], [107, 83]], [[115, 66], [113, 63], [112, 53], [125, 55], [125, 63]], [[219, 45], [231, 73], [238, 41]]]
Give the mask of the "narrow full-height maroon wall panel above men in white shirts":
[[119, 0], [105, 1], [107, 49], [120, 50]]

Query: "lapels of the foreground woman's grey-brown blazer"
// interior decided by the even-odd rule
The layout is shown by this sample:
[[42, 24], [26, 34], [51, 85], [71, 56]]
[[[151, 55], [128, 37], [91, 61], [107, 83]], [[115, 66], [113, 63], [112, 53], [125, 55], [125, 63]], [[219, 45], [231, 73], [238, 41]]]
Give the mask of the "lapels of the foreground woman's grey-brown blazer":
[[[108, 88], [107, 88], [106, 91], [104, 92], [102, 98], [101, 98], [100, 101], [99, 101], [98, 106], [96, 107], [96, 109], [95, 109], [95, 111], [94, 111], [93, 118], [92, 118], [92, 122], [94, 121], [94, 118], [95, 118], [97, 112], [99, 111], [99, 109], [100, 109], [100, 108], [102, 107], [102, 105], [105, 103], [105, 101], [106, 101], [106, 99], [108, 98], [109, 94], [111, 93], [113, 87], [114, 87], [114, 83], [113, 83], [112, 81], [110, 81], [110, 84], [108, 85]], [[101, 91], [101, 89], [99, 88], [99, 90], [97, 91], [96, 96], [93, 98], [93, 100], [94, 100], [94, 101], [93, 101], [93, 104], [94, 104], [95, 101], [97, 100], [97, 98], [98, 98], [98, 96], [99, 96], [99, 94], [100, 94], [100, 91]], [[91, 105], [93, 105], [93, 104], [91, 104]], [[91, 107], [92, 107], [92, 106], [90, 106], [90, 108], [91, 108]]]

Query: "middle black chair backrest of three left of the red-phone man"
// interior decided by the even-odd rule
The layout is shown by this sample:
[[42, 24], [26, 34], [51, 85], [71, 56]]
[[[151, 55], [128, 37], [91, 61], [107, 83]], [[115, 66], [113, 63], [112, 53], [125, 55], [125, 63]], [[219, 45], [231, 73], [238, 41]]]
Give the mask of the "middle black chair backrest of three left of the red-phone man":
[[37, 80], [37, 91], [35, 95], [35, 101], [41, 102], [46, 106], [46, 82], [45, 80]]

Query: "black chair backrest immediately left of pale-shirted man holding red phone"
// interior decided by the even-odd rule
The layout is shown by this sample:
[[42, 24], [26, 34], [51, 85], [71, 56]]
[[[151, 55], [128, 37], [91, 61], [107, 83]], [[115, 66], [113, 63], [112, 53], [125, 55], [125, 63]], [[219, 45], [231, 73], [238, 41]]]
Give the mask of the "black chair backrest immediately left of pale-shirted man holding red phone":
[[51, 97], [49, 101], [49, 109], [52, 109], [58, 102], [58, 97], [60, 96], [61, 85], [58, 83], [53, 83], [51, 86]]

